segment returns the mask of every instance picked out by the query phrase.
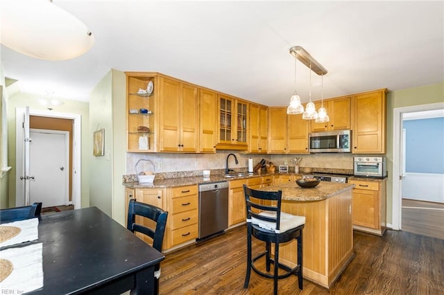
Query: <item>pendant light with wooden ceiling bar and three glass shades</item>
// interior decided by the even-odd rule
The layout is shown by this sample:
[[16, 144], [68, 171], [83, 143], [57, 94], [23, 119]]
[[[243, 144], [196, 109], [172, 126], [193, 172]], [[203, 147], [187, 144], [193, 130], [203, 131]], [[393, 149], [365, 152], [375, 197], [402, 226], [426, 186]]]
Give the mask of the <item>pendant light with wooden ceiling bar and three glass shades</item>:
[[[321, 75], [323, 77], [323, 75], [325, 75], [327, 73], [327, 69], [325, 69], [322, 66], [322, 64], [320, 64], [317, 60], [315, 60], [301, 46], [291, 47], [290, 54], [293, 55], [296, 58], [296, 60], [299, 60], [300, 62], [302, 62], [302, 64], [305, 64], [305, 66], [307, 66], [310, 69], [310, 92], [309, 92], [309, 102], [307, 103], [307, 106], [305, 107], [305, 111], [301, 105], [302, 111], [300, 113], [296, 113], [296, 112], [289, 113], [289, 109], [291, 107], [291, 102], [292, 102], [292, 101], [290, 101], [290, 106], [287, 109], [287, 114], [301, 114], [303, 112], [302, 118], [305, 120], [316, 119], [316, 120], [319, 120], [317, 122], [328, 122], [329, 118], [327, 116], [327, 110], [323, 107], [323, 102], [321, 102], [322, 105], [321, 105], [321, 108], [319, 109], [319, 111], [321, 112], [321, 116], [322, 116], [321, 119], [318, 119], [318, 112], [316, 111], [314, 103], [311, 102], [311, 71], [314, 71], [316, 74]], [[296, 80], [296, 78], [295, 78], [295, 80]], [[293, 100], [293, 97], [291, 97], [291, 100]], [[323, 100], [323, 94], [322, 94], [322, 100]], [[300, 103], [300, 99], [299, 99], [299, 103]], [[324, 121], [325, 119], [327, 119], [327, 120]]]

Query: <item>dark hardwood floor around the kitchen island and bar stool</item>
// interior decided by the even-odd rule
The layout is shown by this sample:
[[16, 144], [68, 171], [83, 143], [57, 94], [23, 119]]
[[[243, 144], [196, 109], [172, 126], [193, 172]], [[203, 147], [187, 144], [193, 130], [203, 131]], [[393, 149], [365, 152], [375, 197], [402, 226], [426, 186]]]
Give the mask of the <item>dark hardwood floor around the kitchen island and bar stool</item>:
[[[280, 280], [279, 294], [444, 294], [444, 240], [391, 230], [383, 237], [355, 231], [354, 237], [355, 258], [330, 291], [308, 280], [300, 291], [291, 276]], [[255, 252], [259, 247], [256, 241]], [[239, 226], [167, 253], [160, 294], [273, 293], [273, 280], [253, 271], [244, 289], [245, 271], [246, 226]]]

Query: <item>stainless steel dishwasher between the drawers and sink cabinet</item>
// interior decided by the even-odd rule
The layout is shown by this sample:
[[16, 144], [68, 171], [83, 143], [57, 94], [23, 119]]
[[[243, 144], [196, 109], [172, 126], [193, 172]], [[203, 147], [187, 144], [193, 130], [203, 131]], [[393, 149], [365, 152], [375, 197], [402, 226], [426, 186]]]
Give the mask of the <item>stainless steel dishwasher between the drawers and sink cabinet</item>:
[[228, 229], [228, 181], [199, 184], [199, 237]]

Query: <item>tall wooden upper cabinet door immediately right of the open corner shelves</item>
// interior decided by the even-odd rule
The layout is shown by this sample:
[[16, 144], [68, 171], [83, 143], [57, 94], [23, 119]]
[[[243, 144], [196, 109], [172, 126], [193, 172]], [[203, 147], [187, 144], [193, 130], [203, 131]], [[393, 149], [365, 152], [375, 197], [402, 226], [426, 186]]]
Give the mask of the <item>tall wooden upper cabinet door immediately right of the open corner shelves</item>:
[[160, 78], [160, 152], [180, 151], [180, 82]]

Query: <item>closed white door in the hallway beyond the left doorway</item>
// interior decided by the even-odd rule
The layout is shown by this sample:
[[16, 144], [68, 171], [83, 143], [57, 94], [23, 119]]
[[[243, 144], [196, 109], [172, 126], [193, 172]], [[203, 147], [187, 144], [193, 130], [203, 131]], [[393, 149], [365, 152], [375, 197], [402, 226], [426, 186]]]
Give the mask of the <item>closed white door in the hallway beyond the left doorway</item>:
[[31, 129], [30, 202], [42, 207], [68, 204], [69, 132]]

